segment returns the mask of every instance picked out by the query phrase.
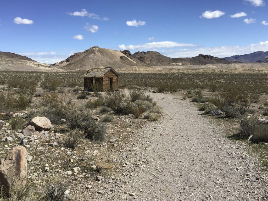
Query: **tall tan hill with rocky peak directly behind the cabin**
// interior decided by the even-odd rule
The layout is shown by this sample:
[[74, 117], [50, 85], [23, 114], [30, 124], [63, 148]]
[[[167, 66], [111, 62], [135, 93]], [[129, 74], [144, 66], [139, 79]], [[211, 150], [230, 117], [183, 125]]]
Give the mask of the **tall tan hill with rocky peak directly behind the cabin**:
[[75, 53], [67, 59], [51, 64], [50, 66], [56, 66], [57, 68], [64, 70], [82, 70], [96, 67], [111, 66], [114, 68], [120, 68], [139, 65], [143, 64], [133, 61], [120, 51], [94, 46], [83, 52]]

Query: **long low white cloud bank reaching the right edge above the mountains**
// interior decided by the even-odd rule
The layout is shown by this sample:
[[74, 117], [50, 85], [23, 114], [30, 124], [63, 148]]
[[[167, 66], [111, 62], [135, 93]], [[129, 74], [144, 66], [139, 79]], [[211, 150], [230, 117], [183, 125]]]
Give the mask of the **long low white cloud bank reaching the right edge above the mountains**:
[[160, 53], [165, 56], [177, 57], [195, 57], [199, 54], [212, 55], [214, 57], [230, 57], [233, 55], [249, 54], [256, 51], [268, 51], [268, 41], [251, 44], [248, 46], [220, 46], [220, 47], [200, 47], [196, 49], [176, 49], [163, 50]]

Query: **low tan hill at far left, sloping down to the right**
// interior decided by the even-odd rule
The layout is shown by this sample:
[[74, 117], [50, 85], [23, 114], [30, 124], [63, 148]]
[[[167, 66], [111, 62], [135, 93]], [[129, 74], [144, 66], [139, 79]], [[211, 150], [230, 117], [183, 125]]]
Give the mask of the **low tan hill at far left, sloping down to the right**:
[[28, 57], [0, 51], [0, 71], [62, 71]]

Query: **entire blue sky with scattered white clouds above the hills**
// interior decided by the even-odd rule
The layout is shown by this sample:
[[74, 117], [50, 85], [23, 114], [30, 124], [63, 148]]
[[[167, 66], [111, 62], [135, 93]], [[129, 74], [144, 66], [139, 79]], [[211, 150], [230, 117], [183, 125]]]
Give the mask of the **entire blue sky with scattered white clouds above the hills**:
[[267, 8], [267, 0], [0, 1], [0, 51], [50, 64], [92, 46], [169, 57], [268, 51]]

